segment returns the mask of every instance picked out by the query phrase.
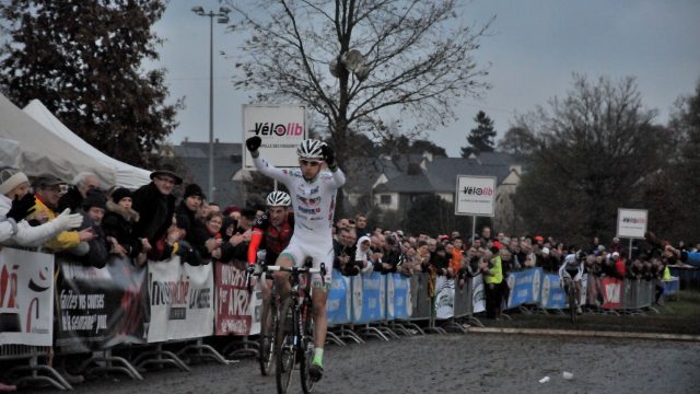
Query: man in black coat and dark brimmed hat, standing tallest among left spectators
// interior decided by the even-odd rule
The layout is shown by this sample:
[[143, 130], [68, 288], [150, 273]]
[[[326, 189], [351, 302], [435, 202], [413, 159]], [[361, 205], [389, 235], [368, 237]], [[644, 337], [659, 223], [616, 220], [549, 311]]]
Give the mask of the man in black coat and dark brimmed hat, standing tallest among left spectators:
[[133, 192], [131, 208], [139, 212], [140, 220], [133, 227], [133, 234], [138, 239], [148, 240], [149, 245], [165, 235], [165, 231], [173, 223], [175, 213], [175, 196], [173, 188], [183, 183], [172, 167], [164, 167], [151, 173], [152, 182]]

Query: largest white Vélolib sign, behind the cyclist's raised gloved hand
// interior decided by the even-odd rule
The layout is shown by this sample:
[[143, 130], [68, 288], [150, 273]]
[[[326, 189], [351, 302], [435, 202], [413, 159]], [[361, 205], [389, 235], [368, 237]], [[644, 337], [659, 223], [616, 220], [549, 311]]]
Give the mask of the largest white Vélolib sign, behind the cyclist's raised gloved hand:
[[243, 105], [243, 167], [255, 170], [245, 140], [258, 136], [265, 159], [276, 167], [299, 166], [296, 147], [306, 139], [304, 107]]

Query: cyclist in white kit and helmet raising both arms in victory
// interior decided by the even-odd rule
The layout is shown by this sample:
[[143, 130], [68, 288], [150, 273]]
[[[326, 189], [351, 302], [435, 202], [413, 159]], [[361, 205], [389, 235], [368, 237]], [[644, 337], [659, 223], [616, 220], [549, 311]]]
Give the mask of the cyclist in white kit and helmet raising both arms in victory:
[[[322, 263], [326, 266], [325, 280], [320, 276], [312, 277], [312, 300], [314, 303], [314, 343], [316, 345], [314, 360], [308, 374], [314, 380], [323, 376], [323, 348], [326, 343], [326, 299], [330, 288], [334, 260], [332, 250], [332, 216], [336, 208], [336, 192], [346, 183], [346, 176], [338, 169], [332, 149], [318, 140], [307, 139], [296, 149], [300, 169], [277, 169], [260, 158], [258, 148], [259, 137], [250, 137], [245, 141], [250, 151], [255, 167], [287, 186], [292, 196], [294, 208], [294, 234], [282, 253], [277, 265], [291, 267], [301, 266], [307, 257], [313, 260], [314, 268]], [[322, 171], [323, 161], [329, 171]], [[289, 274], [275, 273], [276, 283], [282, 297], [290, 290]], [[322, 283], [325, 282], [325, 286]]]

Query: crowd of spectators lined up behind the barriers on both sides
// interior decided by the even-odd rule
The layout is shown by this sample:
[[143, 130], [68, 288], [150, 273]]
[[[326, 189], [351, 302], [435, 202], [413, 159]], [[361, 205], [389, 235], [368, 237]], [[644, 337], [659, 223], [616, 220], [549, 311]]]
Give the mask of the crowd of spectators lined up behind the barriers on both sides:
[[[151, 174], [151, 183], [136, 190], [105, 190], [91, 173], [69, 184], [50, 174], [30, 179], [13, 169], [0, 170], [0, 245], [40, 248], [70, 256], [88, 266], [104, 267], [110, 255], [129, 257], [136, 265], [180, 256], [191, 265], [236, 263], [248, 258], [256, 218], [264, 206], [225, 206], [208, 202], [197, 184], [176, 187], [183, 178], [173, 167]], [[399, 229], [372, 227], [365, 215], [339, 218], [334, 225], [334, 268], [342, 275], [425, 273], [435, 279], [454, 278], [457, 286], [481, 275], [487, 316], [498, 318], [508, 298], [510, 273], [532, 267], [557, 273], [568, 254], [585, 252], [584, 270], [595, 277], [662, 279], [674, 264], [700, 265], [698, 245], [668, 242], [649, 233], [631, 252], [612, 239], [569, 246], [555, 236], [493, 234], [408, 234]], [[599, 289], [588, 300], [599, 300]], [[656, 300], [661, 291], [657, 288]]]

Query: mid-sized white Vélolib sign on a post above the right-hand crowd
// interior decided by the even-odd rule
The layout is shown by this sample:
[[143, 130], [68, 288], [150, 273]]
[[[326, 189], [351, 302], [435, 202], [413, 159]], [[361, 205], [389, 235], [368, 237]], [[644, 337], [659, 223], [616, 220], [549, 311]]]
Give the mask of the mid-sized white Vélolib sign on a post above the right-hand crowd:
[[[471, 237], [476, 234], [477, 216], [493, 217], [495, 177], [457, 175], [455, 215], [471, 215]], [[471, 240], [474, 242], [474, 240]]]

